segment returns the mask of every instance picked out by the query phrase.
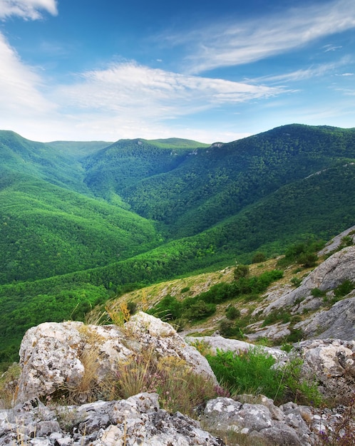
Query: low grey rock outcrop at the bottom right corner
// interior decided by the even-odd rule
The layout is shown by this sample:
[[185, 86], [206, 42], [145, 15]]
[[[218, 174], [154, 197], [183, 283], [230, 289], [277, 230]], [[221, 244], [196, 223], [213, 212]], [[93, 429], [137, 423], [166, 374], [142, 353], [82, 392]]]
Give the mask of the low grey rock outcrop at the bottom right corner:
[[[331, 438], [341, 424], [344, 408], [334, 410], [311, 409], [296, 403], [286, 403], [279, 407], [263, 395], [239, 395], [232, 398], [216, 398], [207, 402], [202, 415], [202, 425], [209, 425], [222, 436], [232, 430], [253, 439], [253, 444], [273, 446], [314, 446], [321, 444], [320, 432], [326, 434], [329, 443], [337, 444]], [[355, 423], [349, 428], [353, 430]], [[340, 435], [349, 432], [340, 430]], [[345, 444], [345, 443], [344, 443]], [[351, 439], [349, 438], [349, 443]]]

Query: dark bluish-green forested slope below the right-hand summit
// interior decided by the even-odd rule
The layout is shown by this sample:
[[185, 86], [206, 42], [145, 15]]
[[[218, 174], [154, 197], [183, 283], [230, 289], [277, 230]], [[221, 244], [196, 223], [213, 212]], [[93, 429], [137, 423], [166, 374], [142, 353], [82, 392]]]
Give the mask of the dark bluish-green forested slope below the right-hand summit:
[[245, 206], [339, 160], [355, 159], [355, 130], [286, 125], [195, 150], [162, 150], [140, 140], [88, 157], [86, 184], [128, 202], [169, 237], [198, 234]]

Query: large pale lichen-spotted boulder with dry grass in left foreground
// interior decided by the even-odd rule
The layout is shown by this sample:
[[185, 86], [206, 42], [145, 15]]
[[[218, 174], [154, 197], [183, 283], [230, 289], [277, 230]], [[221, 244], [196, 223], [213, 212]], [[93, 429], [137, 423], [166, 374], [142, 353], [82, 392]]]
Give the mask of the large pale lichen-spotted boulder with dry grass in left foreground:
[[[86, 326], [80, 322], [41, 323], [26, 332], [20, 348], [16, 402], [46, 396], [58, 389], [78, 389], [86, 371], [95, 368], [98, 383], [115, 373], [119, 361], [152, 348], [160, 356], [184, 359], [195, 371], [212, 378], [207, 360], [168, 323], [146, 313], [133, 316], [125, 328]], [[83, 393], [81, 401], [86, 401]]]

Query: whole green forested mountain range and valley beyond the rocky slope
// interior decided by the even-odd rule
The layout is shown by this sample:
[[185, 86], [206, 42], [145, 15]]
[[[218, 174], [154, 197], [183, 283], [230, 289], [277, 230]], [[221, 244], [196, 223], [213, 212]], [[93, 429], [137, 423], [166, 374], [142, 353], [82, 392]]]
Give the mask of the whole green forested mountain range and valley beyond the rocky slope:
[[0, 132], [2, 360], [26, 328], [124, 287], [281, 254], [354, 224], [355, 129], [226, 144], [32, 142]]

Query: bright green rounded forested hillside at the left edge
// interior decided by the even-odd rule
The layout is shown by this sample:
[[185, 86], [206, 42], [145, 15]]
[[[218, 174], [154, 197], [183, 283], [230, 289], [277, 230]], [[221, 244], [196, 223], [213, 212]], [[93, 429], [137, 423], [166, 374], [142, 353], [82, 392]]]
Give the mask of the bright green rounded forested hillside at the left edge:
[[7, 177], [0, 207], [0, 284], [107, 265], [158, 244], [152, 222], [34, 177]]

